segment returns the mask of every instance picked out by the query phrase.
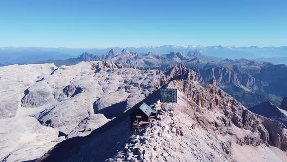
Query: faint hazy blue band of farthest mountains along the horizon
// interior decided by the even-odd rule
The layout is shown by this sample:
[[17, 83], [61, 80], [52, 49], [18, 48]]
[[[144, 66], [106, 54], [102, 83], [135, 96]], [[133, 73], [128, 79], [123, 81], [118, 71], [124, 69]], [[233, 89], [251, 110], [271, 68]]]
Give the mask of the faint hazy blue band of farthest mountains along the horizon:
[[[35, 63], [36, 61], [44, 60], [63, 60], [78, 56], [81, 53], [88, 52], [94, 55], [102, 55], [111, 48], [45, 48], [45, 47], [0, 47], [0, 64], [14, 64], [14, 63]], [[121, 52], [122, 48], [114, 47], [116, 52]], [[272, 63], [286, 63], [287, 62], [287, 46], [282, 47], [235, 47], [235, 46], [145, 46], [145, 47], [126, 47], [127, 51], [137, 51], [138, 53], [156, 53], [167, 54], [170, 51], [181, 52], [187, 54], [189, 51], [199, 51], [205, 56], [215, 58], [229, 58], [229, 59], [258, 59], [259, 61], [266, 61]]]

